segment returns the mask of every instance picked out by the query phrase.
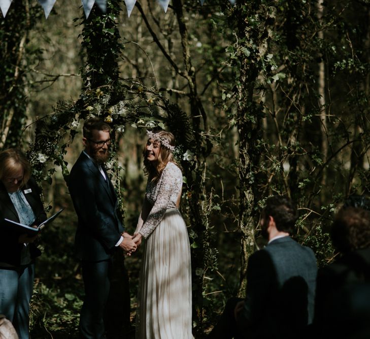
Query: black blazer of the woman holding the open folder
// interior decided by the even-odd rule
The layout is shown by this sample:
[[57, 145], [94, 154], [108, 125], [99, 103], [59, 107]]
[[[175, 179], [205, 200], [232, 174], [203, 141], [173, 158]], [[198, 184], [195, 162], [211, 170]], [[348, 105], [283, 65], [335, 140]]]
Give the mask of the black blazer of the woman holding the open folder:
[[[39, 224], [46, 220], [46, 213], [44, 211], [43, 203], [41, 202], [40, 194], [41, 190], [37, 186], [35, 180], [32, 178], [28, 180], [25, 187], [22, 188], [24, 196], [31, 206], [33, 213], [35, 214], [36, 224]], [[19, 223], [19, 217], [17, 211], [9, 197], [4, 184], [0, 181], [0, 212], [1, 220], [4, 218]], [[20, 236], [19, 231], [12, 230], [10, 226], [4, 226], [0, 224], [2, 230], [0, 235], [0, 262], [5, 262], [13, 266], [20, 265], [22, 243], [18, 242]], [[35, 244], [30, 243], [29, 249], [31, 252], [31, 258], [35, 258], [41, 254], [40, 250]]]

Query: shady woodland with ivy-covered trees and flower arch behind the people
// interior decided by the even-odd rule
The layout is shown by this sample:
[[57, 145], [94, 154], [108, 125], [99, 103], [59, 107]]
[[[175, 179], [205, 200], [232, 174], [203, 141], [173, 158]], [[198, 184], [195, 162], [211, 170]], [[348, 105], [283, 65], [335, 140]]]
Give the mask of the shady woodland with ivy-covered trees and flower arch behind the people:
[[[40, 239], [32, 338], [77, 337], [83, 284], [66, 183], [92, 115], [114, 128], [108, 166], [129, 232], [144, 196], [146, 128], [177, 137], [202, 338], [245, 291], [266, 197], [296, 202], [294, 237], [322, 266], [335, 256], [335, 208], [369, 193], [370, 2], [173, 0], [163, 13], [143, 0], [130, 18], [123, 1], [107, 5], [86, 19], [78, 1], [57, 1], [45, 20], [36, 0], [17, 0], [0, 19], [0, 149], [24, 149], [47, 209], [65, 208]], [[140, 258], [125, 259], [128, 288], [117, 257], [112, 337], [133, 337]]]

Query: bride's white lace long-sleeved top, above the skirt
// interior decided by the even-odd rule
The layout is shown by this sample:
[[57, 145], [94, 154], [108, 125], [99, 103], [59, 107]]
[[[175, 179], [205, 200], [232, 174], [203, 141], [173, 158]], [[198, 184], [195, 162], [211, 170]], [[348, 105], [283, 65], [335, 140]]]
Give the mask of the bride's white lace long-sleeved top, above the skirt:
[[143, 209], [135, 233], [147, 238], [162, 221], [168, 208], [176, 208], [182, 189], [182, 173], [172, 162], [167, 163], [156, 182], [148, 179]]

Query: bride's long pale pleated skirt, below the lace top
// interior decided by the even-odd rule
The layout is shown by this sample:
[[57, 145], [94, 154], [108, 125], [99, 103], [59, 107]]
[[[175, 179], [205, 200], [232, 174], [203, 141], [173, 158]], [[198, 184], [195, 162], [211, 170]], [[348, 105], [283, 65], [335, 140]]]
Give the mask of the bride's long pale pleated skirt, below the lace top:
[[146, 239], [136, 339], [192, 339], [190, 244], [177, 208]]

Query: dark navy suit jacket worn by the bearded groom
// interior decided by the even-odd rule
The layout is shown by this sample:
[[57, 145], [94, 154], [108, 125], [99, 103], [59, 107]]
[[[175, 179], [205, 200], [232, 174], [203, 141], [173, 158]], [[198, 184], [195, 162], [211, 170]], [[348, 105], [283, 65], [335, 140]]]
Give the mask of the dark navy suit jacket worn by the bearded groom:
[[109, 259], [124, 230], [116, 193], [105, 174], [107, 181], [84, 152], [71, 170], [69, 190], [78, 217], [76, 255], [82, 260]]

